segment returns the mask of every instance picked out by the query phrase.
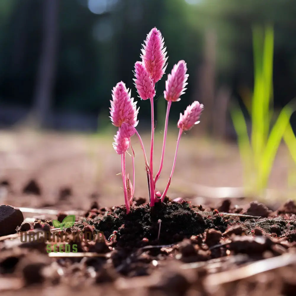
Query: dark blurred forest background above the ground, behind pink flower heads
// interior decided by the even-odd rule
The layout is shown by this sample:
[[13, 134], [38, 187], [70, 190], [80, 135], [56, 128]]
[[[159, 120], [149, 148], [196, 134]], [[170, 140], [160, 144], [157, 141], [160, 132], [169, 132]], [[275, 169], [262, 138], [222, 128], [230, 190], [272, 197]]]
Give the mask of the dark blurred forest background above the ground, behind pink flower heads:
[[[295, 15], [295, 0], [1, 0], [0, 124], [32, 112], [54, 128], [64, 127], [48, 119], [59, 112], [84, 115], [84, 121], [99, 114], [101, 126], [110, 124], [112, 87], [123, 80], [137, 96], [133, 66], [152, 27], [165, 38], [166, 72], [180, 59], [188, 67], [188, 90], [170, 120], [193, 100], [214, 107], [207, 97], [221, 88], [238, 100], [253, 89], [254, 24], [274, 27], [274, 103], [281, 108], [296, 94]], [[161, 114], [166, 77], [156, 92]], [[138, 104], [141, 124], [150, 109]]]

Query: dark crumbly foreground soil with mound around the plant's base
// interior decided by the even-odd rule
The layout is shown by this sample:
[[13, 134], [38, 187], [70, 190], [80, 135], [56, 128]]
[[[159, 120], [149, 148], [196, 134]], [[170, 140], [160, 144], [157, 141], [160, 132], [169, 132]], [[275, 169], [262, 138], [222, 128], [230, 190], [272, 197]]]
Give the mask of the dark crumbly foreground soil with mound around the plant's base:
[[[17, 227], [17, 233], [33, 232], [43, 241], [21, 242], [18, 234], [0, 237], [0, 291], [295, 295], [295, 213], [292, 201], [272, 211], [258, 202], [239, 207], [230, 200], [205, 210], [168, 198], [151, 209], [139, 199], [129, 214], [124, 206], [109, 209], [93, 201], [71, 228], [57, 232], [71, 248], [77, 245], [81, 257], [49, 257], [47, 245], [54, 250], [56, 241], [52, 221], [46, 219]], [[66, 215], [55, 219], [62, 222]], [[98, 231], [104, 237], [96, 238]], [[79, 234], [83, 239], [77, 239]], [[56, 244], [66, 249], [65, 242]]]

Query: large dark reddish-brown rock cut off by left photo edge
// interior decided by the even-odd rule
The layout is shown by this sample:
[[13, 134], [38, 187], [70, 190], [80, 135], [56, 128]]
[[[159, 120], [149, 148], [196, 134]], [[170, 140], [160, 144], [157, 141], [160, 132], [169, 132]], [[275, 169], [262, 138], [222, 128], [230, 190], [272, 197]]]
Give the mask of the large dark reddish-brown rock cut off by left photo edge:
[[10, 205], [0, 206], [0, 236], [14, 234], [23, 221], [24, 216], [18, 208]]

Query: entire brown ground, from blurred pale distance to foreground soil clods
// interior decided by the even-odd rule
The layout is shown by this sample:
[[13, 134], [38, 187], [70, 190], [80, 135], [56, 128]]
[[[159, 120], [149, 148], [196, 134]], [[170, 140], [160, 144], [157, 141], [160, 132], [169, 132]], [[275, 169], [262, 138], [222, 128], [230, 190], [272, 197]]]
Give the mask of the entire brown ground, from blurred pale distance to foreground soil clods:
[[[175, 150], [176, 135], [168, 138], [159, 189]], [[143, 139], [148, 143], [149, 135]], [[266, 201], [266, 207], [238, 195], [228, 201], [204, 198], [205, 188], [197, 185], [242, 185], [237, 147], [192, 135], [182, 140], [168, 195], [187, 201], [166, 200], [151, 211], [139, 199], [147, 197], [147, 184], [133, 139], [137, 199], [126, 215], [112, 133], [2, 132], [0, 204], [21, 208], [25, 222], [19, 232], [42, 231], [48, 240], [25, 244], [20, 234], [4, 236], [15, 232], [12, 221], [20, 219], [13, 209], [17, 218], [2, 228], [0, 221], [1, 295], [295, 295], [296, 206], [283, 206], [293, 168], [286, 150], [280, 149], [270, 182], [282, 200]], [[215, 197], [217, 192], [206, 193]], [[103, 231], [106, 241], [78, 242], [78, 258], [49, 257], [52, 219], [61, 222], [69, 210], [76, 222], [63, 235], [71, 246], [81, 231]]]

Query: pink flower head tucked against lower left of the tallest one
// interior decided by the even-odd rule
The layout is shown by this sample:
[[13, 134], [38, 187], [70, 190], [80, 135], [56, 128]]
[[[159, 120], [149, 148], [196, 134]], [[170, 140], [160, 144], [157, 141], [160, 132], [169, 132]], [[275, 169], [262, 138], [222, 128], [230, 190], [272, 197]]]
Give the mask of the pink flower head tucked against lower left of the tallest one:
[[142, 100], [153, 99], [155, 96], [154, 83], [142, 62], [135, 64], [135, 86]]

